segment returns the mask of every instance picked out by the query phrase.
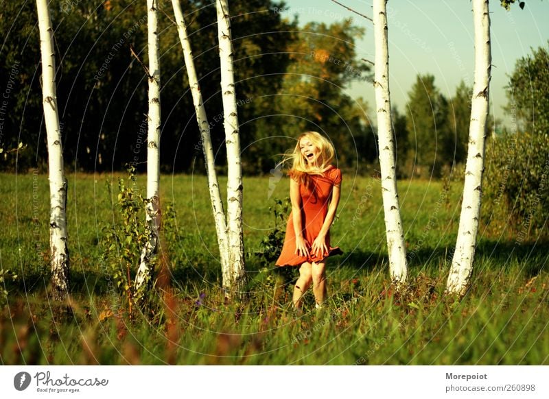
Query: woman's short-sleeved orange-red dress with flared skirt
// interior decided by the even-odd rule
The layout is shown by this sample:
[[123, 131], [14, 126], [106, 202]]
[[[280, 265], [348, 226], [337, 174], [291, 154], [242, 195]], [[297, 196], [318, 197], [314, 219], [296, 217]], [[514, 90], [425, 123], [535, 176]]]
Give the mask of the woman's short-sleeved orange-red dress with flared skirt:
[[[323, 226], [328, 213], [328, 205], [331, 199], [331, 189], [334, 185], [340, 184], [342, 180], [341, 171], [331, 165], [322, 176], [310, 175], [314, 189], [307, 189], [301, 184], [299, 193], [301, 194], [301, 223], [303, 224], [303, 238], [309, 245], [318, 237], [318, 233]], [[294, 230], [294, 219], [290, 213], [288, 225], [281, 254], [277, 260], [277, 266], [301, 266], [305, 262], [320, 262], [328, 256], [340, 255], [342, 250], [339, 247], [330, 246], [330, 233], [326, 234], [326, 246], [328, 251], [322, 256], [309, 254], [309, 256], [299, 256], [296, 254], [296, 236]]]

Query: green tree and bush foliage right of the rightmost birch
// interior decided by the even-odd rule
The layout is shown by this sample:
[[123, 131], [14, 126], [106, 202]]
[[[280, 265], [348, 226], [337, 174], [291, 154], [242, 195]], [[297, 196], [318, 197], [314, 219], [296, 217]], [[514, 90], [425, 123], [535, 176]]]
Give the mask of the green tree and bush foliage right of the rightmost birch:
[[549, 56], [546, 48], [517, 61], [507, 87], [511, 132], [487, 147], [483, 219], [518, 242], [548, 238]]

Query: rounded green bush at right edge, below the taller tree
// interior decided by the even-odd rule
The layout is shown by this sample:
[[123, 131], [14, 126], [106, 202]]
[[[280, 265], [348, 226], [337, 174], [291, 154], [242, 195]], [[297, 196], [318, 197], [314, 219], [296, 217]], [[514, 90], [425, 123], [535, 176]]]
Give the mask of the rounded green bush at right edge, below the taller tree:
[[490, 234], [518, 243], [547, 239], [548, 134], [505, 134], [487, 145], [482, 219]]

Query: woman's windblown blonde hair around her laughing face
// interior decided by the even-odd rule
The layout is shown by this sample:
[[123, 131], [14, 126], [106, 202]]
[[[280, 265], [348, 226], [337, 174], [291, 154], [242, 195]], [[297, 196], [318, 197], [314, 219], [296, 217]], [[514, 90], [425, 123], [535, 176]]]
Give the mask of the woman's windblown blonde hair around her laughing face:
[[[315, 147], [318, 148], [318, 160], [316, 166], [310, 165], [307, 159], [301, 154], [300, 143], [303, 138], [307, 138]], [[292, 161], [292, 167], [288, 175], [300, 184], [310, 185], [309, 175], [322, 175], [334, 160], [336, 151], [334, 145], [318, 132], [305, 132], [297, 138], [294, 151], [286, 154], [283, 162]]]

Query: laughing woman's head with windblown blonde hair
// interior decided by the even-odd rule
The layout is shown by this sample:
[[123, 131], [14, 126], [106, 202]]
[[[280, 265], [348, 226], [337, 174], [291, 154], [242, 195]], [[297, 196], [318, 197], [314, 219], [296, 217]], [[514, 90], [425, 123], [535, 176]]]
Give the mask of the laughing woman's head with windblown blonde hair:
[[334, 160], [334, 145], [317, 132], [305, 132], [297, 138], [292, 154], [292, 170], [306, 173], [322, 173]]

